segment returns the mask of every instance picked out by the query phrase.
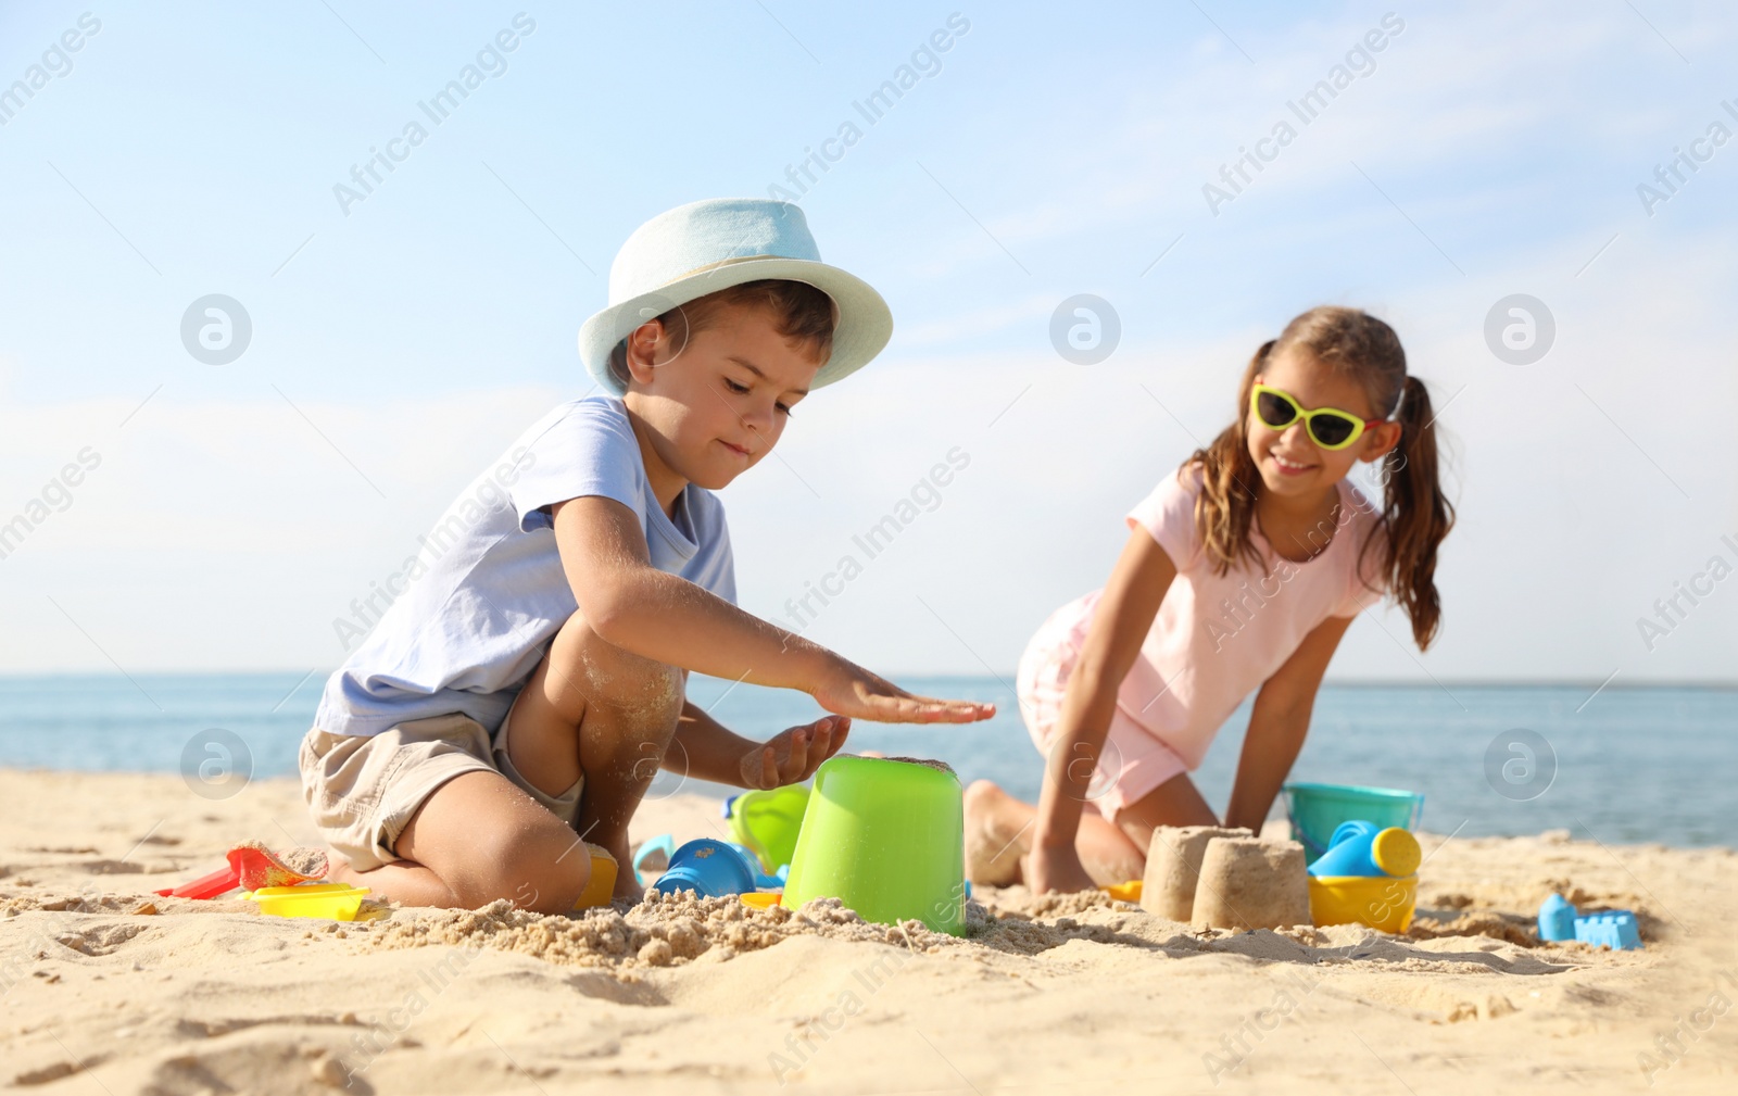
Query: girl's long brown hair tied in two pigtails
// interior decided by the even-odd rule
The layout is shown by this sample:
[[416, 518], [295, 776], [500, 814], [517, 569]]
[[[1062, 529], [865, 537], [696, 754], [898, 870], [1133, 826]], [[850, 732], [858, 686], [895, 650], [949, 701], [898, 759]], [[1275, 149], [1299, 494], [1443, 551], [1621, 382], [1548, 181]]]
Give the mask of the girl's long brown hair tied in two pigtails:
[[1371, 537], [1364, 544], [1357, 573], [1363, 580], [1368, 573], [1364, 556], [1382, 542], [1385, 552], [1380, 573], [1394, 599], [1406, 608], [1413, 641], [1422, 651], [1430, 646], [1443, 620], [1436, 592], [1436, 549], [1455, 526], [1455, 507], [1437, 485], [1430, 394], [1423, 380], [1406, 373], [1406, 351], [1399, 335], [1375, 316], [1350, 307], [1312, 307], [1291, 320], [1279, 339], [1270, 339], [1255, 351], [1237, 386], [1237, 419], [1182, 464], [1182, 469], [1201, 465], [1201, 493], [1194, 507], [1201, 545], [1218, 575], [1229, 571], [1237, 558], [1262, 566], [1260, 554], [1250, 542], [1255, 488], [1262, 483], [1250, 459], [1250, 387], [1262, 366], [1286, 349], [1356, 380], [1382, 417], [1394, 415], [1399, 405], [1401, 439], [1394, 450], [1399, 459], [1383, 459], [1380, 469], [1385, 483], [1380, 509], [1385, 537]]

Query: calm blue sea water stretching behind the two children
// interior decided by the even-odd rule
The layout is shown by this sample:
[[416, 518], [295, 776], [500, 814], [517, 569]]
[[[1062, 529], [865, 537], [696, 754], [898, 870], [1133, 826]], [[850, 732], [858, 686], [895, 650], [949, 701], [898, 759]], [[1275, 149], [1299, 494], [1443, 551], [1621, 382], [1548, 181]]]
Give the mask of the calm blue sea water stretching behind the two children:
[[[1012, 674], [900, 684], [991, 700], [998, 714], [965, 726], [859, 723], [846, 750], [935, 757], [961, 780], [994, 780], [1036, 801], [1043, 757], [1020, 721]], [[0, 766], [196, 773], [221, 756], [209, 742], [240, 742], [238, 768], [289, 776], [322, 686], [322, 674], [0, 677]], [[692, 679], [688, 695], [747, 738], [822, 716], [803, 693], [711, 677]], [[1225, 721], [1194, 773], [1220, 813], [1250, 707]], [[1568, 829], [1606, 844], [1738, 846], [1738, 690], [1324, 684], [1290, 778], [1423, 792], [1420, 825], [1437, 834]], [[676, 792], [730, 789], [662, 773], [648, 797]], [[1283, 802], [1272, 816], [1283, 816]]]

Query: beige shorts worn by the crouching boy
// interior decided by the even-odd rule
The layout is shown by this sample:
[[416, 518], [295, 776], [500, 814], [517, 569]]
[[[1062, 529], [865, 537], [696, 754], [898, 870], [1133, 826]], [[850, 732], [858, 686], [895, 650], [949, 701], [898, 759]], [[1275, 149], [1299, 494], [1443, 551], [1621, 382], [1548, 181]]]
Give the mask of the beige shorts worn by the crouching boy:
[[507, 757], [507, 723], [501, 721], [494, 738], [461, 714], [410, 719], [379, 735], [308, 731], [297, 761], [302, 797], [320, 835], [358, 872], [403, 860], [393, 846], [410, 816], [434, 789], [462, 773], [501, 773], [574, 825], [586, 778], [560, 796], [534, 787]]

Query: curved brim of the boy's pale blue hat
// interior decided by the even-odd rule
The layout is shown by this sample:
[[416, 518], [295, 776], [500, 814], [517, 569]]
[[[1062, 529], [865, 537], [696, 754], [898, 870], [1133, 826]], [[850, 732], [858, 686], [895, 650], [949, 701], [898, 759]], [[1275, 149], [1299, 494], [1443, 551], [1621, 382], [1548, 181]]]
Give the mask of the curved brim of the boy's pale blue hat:
[[653, 292], [612, 304], [579, 328], [579, 358], [600, 386], [620, 396], [626, 389], [610, 373], [610, 351], [615, 349], [617, 342], [641, 323], [678, 304], [763, 278], [812, 285], [833, 297], [839, 309], [839, 321], [833, 330], [833, 354], [815, 373], [810, 389], [826, 387], [855, 373], [869, 365], [893, 337], [893, 313], [886, 307], [881, 294], [862, 278], [826, 262], [768, 257], [744, 259], [688, 274]]

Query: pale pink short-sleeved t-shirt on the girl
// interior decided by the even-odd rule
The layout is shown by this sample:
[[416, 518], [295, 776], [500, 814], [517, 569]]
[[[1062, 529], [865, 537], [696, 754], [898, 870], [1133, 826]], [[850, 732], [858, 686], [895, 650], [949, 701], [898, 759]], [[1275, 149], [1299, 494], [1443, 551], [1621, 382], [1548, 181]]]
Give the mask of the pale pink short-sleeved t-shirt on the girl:
[[[1118, 707], [1191, 769], [1243, 698], [1272, 677], [1316, 625], [1328, 617], [1356, 617], [1382, 596], [1380, 545], [1364, 559], [1364, 582], [1356, 573], [1359, 551], [1382, 530], [1376, 505], [1343, 479], [1337, 486], [1338, 525], [1324, 525], [1310, 540], [1319, 545], [1331, 537], [1326, 551], [1309, 561], [1276, 556], [1251, 525], [1265, 575], [1251, 571], [1246, 559], [1224, 575], [1208, 566], [1194, 525], [1197, 465], [1166, 476], [1130, 511], [1128, 526], [1152, 533], [1177, 566], [1177, 578], [1118, 690]], [[1085, 639], [1100, 594], [1093, 591], [1058, 611], [1074, 617], [1067, 631], [1076, 641]]]

